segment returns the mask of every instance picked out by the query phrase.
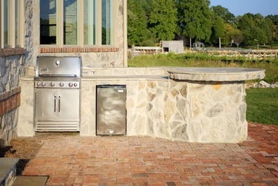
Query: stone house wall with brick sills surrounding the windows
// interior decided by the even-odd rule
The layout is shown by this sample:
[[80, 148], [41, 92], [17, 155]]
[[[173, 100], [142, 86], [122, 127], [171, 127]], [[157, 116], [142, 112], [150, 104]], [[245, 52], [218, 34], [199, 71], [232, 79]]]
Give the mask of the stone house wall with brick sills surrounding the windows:
[[[84, 67], [122, 67], [127, 64], [126, 53], [126, 0], [117, 0], [117, 36], [113, 46], [54, 47], [40, 46], [40, 0], [24, 0], [24, 47], [0, 49], [0, 145], [8, 144], [17, 135], [20, 118], [26, 114], [19, 105], [33, 107], [33, 76], [38, 55], [80, 55]], [[31, 70], [30, 70], [31, 69]], [[19, 82], [21, 77], [31, 81]], [[25, 94], [28, 92], [27, 94]], [[33, 122], [33, 121], [28, 121]], [[24, 129], [25, 130], [25, 129]], [[28, 130], [28, 129], [26, 129]]]

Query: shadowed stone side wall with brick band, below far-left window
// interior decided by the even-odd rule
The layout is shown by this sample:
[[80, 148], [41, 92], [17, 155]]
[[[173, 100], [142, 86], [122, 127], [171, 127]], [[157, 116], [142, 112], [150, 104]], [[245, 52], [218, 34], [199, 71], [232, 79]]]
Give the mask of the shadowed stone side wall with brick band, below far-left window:
[[22, 56], [0, 56], [0, 139], [8, 144], [16, 136], [20, 104], [19, 74]]

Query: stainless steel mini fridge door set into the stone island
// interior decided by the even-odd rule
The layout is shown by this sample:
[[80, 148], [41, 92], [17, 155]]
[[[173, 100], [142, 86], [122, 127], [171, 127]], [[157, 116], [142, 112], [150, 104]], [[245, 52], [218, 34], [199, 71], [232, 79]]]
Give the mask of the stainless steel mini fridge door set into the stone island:
[[97, 86], [97, 135], [126, 134], [126, 86]]

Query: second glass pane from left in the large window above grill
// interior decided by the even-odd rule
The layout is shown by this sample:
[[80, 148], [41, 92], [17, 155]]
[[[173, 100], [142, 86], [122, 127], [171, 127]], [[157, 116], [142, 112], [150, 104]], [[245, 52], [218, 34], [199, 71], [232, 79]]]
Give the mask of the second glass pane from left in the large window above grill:
[[77, 45], [77, 0], [64, 1], [64, 44]]

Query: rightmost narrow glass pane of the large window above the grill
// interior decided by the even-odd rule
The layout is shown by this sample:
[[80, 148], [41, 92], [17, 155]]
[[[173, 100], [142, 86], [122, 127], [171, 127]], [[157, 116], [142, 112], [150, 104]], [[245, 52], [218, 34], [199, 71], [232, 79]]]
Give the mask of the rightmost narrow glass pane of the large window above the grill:
[[113, 0], [101, 0], [101, 44], [113, 45]]

